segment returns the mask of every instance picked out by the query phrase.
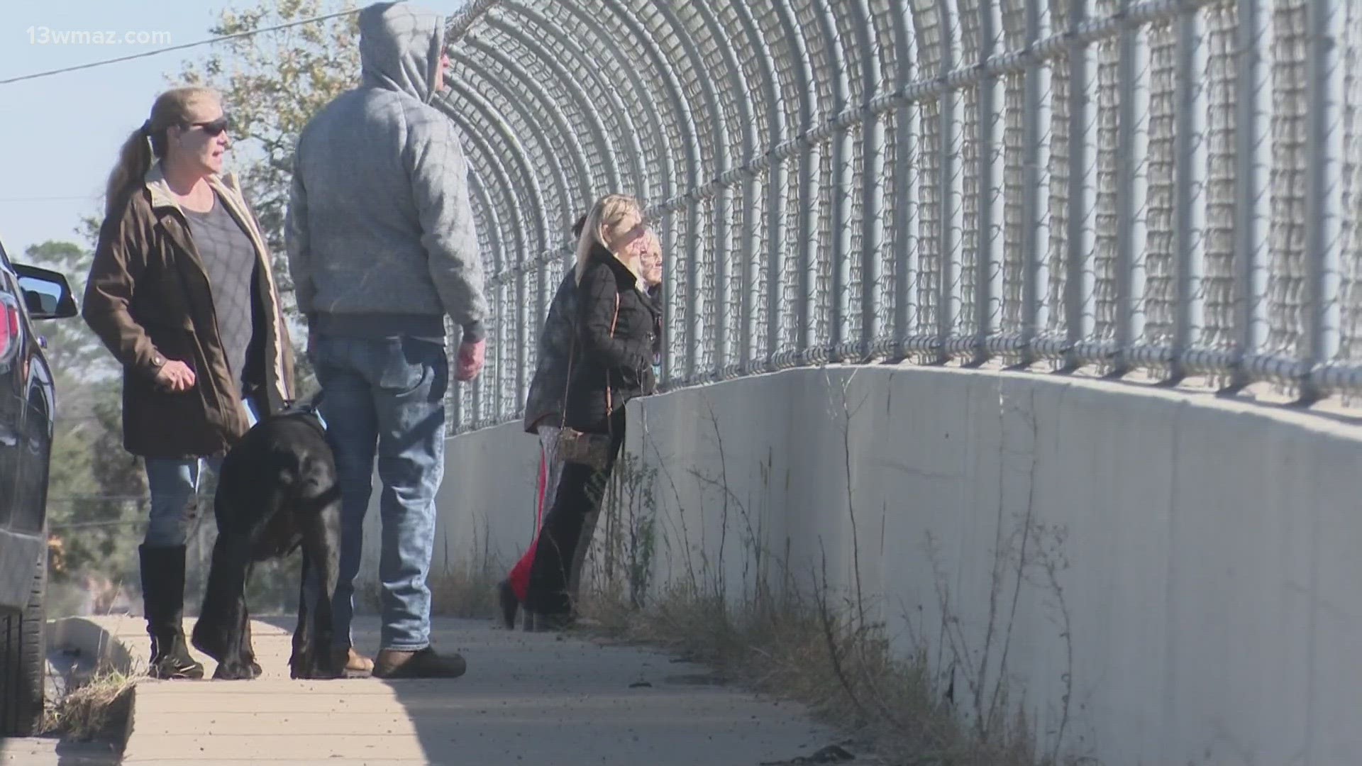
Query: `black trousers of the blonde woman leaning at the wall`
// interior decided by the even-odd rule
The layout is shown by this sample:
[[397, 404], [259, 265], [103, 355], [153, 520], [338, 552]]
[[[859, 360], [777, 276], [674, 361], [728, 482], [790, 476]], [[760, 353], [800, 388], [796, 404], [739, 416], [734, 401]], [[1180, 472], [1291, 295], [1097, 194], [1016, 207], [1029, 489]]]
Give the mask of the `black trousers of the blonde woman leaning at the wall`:
[[620, 447], [624, 446], [624, 408], [597, 424], [597, 428], [583, 431], [610, 433], [610, 457], [601, 470], [582, 463], [563, 466], [553, 507], [543, 515], [543, 526], [534, 551], [534, 566], [530, 568], [530, 589], [526, 593], [526, 609], [539, 615], [572, 612], [572, 600], [568, 596], [569, 572], [577, 555], [577, 545], [591, 542], [582, 540], [582, 526], [588, 517], [601, 510], [614, 462], [620, 457]]

